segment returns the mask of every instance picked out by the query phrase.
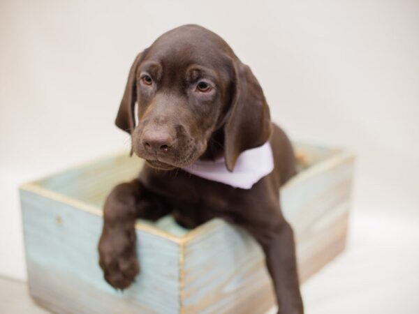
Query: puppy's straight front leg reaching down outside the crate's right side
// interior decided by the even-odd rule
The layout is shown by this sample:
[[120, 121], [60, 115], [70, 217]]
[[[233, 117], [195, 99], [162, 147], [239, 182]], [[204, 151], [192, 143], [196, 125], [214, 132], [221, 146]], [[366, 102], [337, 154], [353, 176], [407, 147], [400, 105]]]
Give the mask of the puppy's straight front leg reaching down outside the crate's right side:
[[[278, 314], [304, 313], [295, 258], [295, 241], [291, 225], [284, 218], [269, 227], [247, 229], [265, 253], [267, 269], [274, 283]], [[279, 221], [281, 220], [281, 221]]]

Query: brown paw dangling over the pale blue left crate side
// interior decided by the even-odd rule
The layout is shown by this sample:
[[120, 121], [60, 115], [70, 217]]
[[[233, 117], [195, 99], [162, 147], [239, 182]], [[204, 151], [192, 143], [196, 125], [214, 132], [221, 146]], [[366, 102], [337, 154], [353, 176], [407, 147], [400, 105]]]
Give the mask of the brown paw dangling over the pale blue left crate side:
[[135, 250], [135, 230], [105, 230], [98, 249], [105, 281], [116, 289], [129, 287], [140, 272]]

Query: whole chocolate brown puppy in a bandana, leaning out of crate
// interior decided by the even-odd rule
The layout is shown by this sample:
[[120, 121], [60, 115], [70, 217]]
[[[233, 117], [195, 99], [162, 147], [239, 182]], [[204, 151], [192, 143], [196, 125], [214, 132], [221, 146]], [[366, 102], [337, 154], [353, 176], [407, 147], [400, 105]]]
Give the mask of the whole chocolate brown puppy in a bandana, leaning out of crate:
[[[136, 218], [170, 213], [193, 228], [217, 217], [262, 246], [278, 313], [303, 313], [293, 230], [279, 202], [279, 188], [295, 174], [293, 149], [228, 44], [196, 25], [164, 33], [135, 58], [116, 124], [146, 164], [105, 202], [98, 246], [105, 280], [124, 289], [138, 275]], [[240, 162], [246, 158], [250, 165]]]

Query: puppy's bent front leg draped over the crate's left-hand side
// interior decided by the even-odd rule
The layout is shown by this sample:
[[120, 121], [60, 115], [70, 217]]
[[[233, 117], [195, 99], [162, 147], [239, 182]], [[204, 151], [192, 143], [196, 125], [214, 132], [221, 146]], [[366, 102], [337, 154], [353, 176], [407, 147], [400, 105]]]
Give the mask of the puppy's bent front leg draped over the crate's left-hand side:
[[168, 207], [136, 179], [115, 186], [108, 195], [98, 251], [104, 278], [112, 287], [125, 289], [140, 271], [136, 252], [136, 218], [156, 220], [167, 211]]

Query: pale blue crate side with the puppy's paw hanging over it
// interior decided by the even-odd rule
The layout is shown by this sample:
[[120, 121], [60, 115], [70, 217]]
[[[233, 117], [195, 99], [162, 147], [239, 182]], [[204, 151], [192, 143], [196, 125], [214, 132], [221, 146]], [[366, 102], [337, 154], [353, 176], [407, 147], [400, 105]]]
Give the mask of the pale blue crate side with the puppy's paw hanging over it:
[[[179, 246], [137, 230], [142, 272], [117, 292], [103, 279], [102, 218], [21, 191], [31, 294], [57, 313], [179, 313]], [[78, 300], [75, 302], [74, 300]]]

